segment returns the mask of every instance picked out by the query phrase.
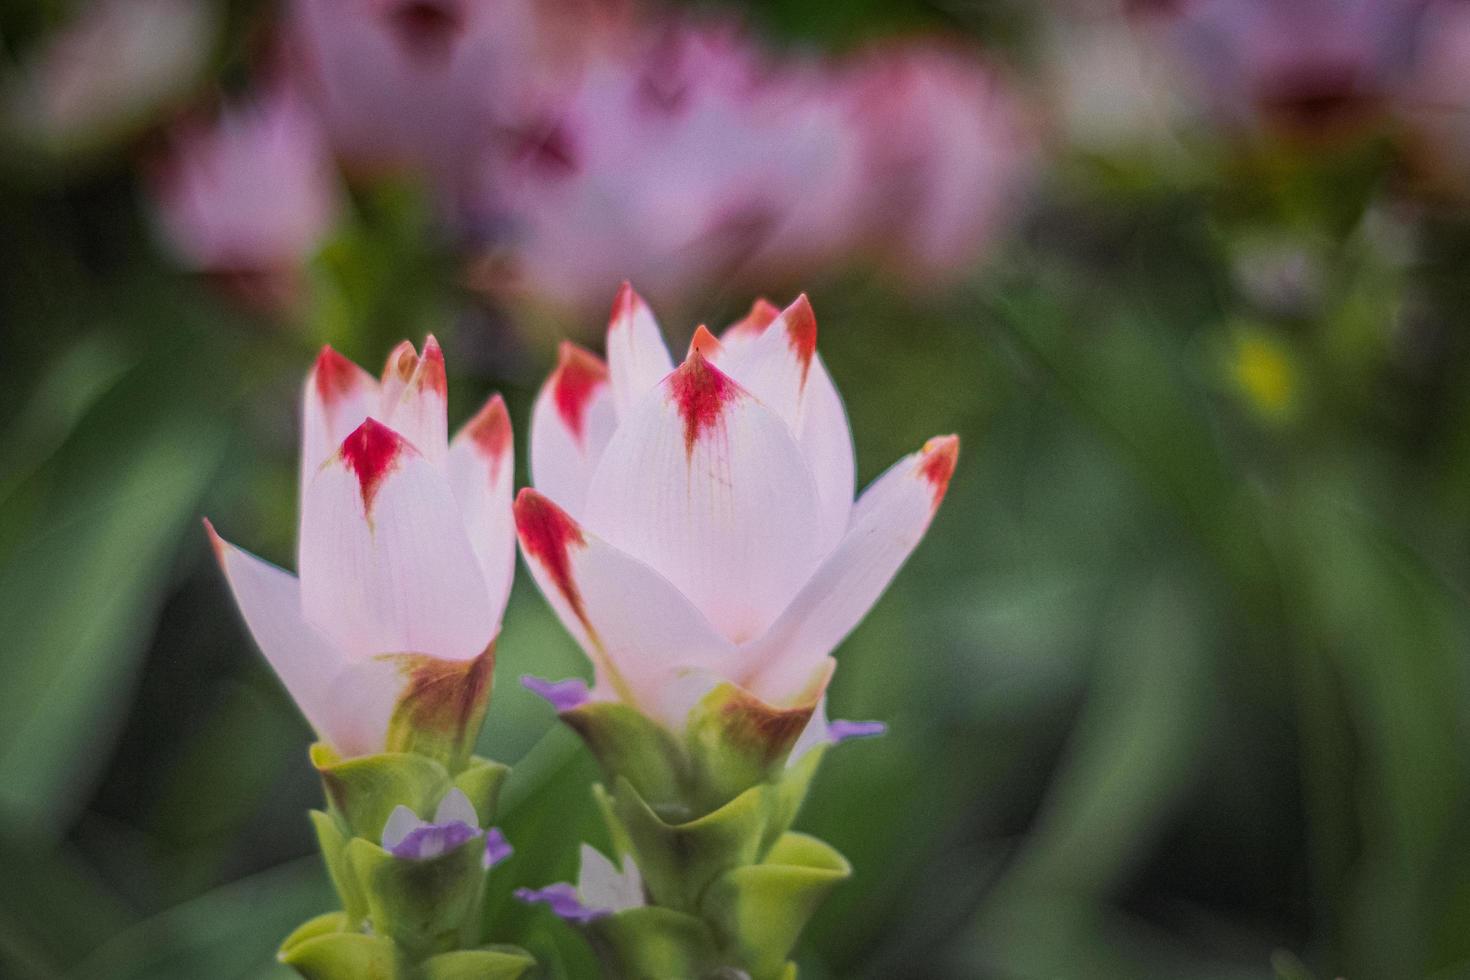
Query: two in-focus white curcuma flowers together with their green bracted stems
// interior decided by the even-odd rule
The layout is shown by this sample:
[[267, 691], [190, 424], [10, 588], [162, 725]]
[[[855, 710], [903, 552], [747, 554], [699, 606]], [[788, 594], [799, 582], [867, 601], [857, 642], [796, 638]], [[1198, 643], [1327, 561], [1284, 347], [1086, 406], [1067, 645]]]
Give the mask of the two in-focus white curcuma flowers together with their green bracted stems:
[[[675, 364], [625, 284], [607, 361], [564, 344], [512, 504], [492, 397], [453, 439], [444, 356], [395, 348], [373, 378], [331, 348], [307, 376], [300, 577], [210, 539], [245, 623], [320, 742], [312, 814], [341, 911], [281, 948], [307, 977], [517, 977], [481, 942], [506, 767], [472, 754], [519, 538], [592, 667], [528, 686], [588, 743], [616, 864], [522, 887], [587, 932], [612, 976], [789, 976], [807, 917], [850, 867], [791, 830], [825, 746], [832, 649], [944, 498], [956, 436], [856, 501], [853, 436], [804, 295], [759, 300]], [[207, 522], [206, 522], [207, 526]], [[425, 817], [431, 814], [432, 818]], [[403, 973], [407, 970], [407, 973]], [[453, 976], [470, 976], [456, 973]]]

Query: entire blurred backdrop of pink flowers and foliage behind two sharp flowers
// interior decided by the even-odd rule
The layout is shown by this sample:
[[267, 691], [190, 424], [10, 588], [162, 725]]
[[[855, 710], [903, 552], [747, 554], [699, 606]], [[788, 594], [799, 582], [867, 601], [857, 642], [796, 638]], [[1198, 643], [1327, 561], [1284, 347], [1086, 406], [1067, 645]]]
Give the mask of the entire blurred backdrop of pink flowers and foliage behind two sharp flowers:
[[[803, 977], [1470, 977], [1470, 4], [7, 0], [0, 976], [278, 977], [310, 739], [198, 519], [294, 564], [315, 350], [519, 429], [623, 278], [806, 289], [866, 483], [964, 450], [839, 651]], [[523, 480], [522, 480], [523, 482]], [[510, 890], [598, 840], [526, 671]]]

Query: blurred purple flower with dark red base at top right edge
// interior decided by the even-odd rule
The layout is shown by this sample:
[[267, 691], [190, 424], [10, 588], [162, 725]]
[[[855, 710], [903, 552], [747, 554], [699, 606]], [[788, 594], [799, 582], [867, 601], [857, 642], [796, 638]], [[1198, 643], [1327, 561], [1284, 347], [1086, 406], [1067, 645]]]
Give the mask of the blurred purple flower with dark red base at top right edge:
[[1408, 68], [1426, 0], [1138, 3], [1223, 118], [1292, 137], [1373, 123]]

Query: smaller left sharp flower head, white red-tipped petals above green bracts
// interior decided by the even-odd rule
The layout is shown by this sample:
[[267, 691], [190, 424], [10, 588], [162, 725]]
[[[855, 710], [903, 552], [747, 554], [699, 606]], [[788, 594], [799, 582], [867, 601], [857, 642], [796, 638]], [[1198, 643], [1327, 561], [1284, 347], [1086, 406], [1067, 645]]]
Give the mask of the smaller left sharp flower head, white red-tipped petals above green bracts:
[[[447, 751], [484, 716], [514, 570], [512, 432], [492, 397], [453, 441], [444, 354], [382, 379], [328, 348], [307, 376], [300, 577], [209, 527], [250, 632], [340, 755]], [[206, 522], [207, 526], [209, 522]]]

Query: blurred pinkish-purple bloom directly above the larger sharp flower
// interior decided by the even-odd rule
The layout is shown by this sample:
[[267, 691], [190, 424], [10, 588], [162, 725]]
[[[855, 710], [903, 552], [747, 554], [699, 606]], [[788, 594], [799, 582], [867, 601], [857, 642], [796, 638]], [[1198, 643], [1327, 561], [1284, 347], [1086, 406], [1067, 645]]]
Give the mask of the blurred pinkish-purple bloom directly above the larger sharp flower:
[[738, 28], [613, 24], [569, 60], [485, 170], [482, 198], [512, 228], [495, 285], [588, 309], [637, 278], [673, 301], [842, 217], [845, 191], [810, 209], [856, 184], [839, 179], [856, 169], [844, 120]]

